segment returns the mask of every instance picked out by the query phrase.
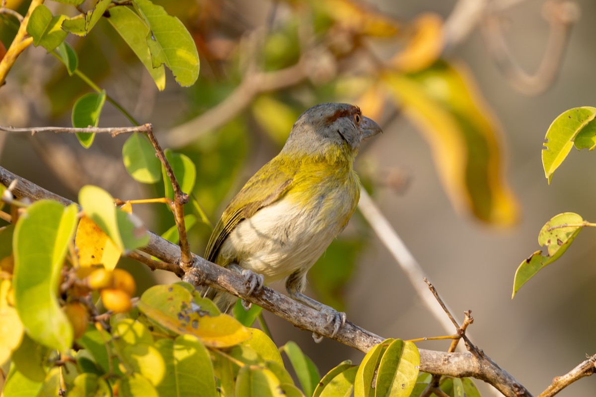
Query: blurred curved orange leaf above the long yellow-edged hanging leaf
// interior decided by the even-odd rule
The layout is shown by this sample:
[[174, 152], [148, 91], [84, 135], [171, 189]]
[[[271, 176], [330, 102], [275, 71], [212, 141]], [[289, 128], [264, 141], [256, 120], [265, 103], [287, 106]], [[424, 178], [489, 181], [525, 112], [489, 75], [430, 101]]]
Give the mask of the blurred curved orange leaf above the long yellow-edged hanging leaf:
[[443, 20], [432, 12], [424, 12], [412, 21], [414, 32], [405, 48], [392, 60], [399, 70], [413, 72], [430, 67], [443, 50]]

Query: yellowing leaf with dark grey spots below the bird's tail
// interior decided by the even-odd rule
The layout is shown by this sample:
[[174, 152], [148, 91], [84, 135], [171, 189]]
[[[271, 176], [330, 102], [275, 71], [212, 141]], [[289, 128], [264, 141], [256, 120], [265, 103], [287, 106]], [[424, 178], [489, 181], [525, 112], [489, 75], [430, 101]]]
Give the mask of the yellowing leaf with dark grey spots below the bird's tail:
[[157, 285], [146, 290], [137, 307], [164, 329], [198, 337], [205, 345], [223, 348], [249, 339], [250, 333], [235, 318], [215, 317], [194, 303], [193, 295], [180, 285]]

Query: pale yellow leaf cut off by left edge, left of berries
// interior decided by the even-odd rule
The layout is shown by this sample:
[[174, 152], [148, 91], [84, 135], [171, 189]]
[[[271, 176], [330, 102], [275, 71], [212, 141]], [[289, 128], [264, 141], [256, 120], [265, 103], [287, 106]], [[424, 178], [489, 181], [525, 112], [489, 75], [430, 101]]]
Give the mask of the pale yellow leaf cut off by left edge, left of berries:
[[0, 366], [8, 361], [23, 339], [23, 323], [7, 300], [11, 287], [9, 280], [0, 280]]

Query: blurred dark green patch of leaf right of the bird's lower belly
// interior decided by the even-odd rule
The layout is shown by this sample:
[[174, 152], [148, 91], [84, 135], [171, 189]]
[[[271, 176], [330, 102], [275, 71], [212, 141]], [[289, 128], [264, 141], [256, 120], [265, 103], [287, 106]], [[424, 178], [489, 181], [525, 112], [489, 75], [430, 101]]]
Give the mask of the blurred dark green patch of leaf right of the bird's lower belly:
[[333, 240], [308, 273], [308, 279], [321, 302], [342, 311], [344, 288], [352, 279], [359, 254], [367, 244], [358, 238], [339, 237]]

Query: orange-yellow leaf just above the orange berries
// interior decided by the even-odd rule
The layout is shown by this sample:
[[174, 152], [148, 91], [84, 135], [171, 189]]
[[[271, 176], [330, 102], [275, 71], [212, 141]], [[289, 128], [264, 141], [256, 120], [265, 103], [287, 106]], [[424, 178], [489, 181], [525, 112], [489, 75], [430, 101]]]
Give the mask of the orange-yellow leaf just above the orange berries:
[[79, 221], [75, 244], [79, 249], [80, 267], [104, 265], [107, 270], [113, 270], [122, 254], [110, 237], [88, 217]]

